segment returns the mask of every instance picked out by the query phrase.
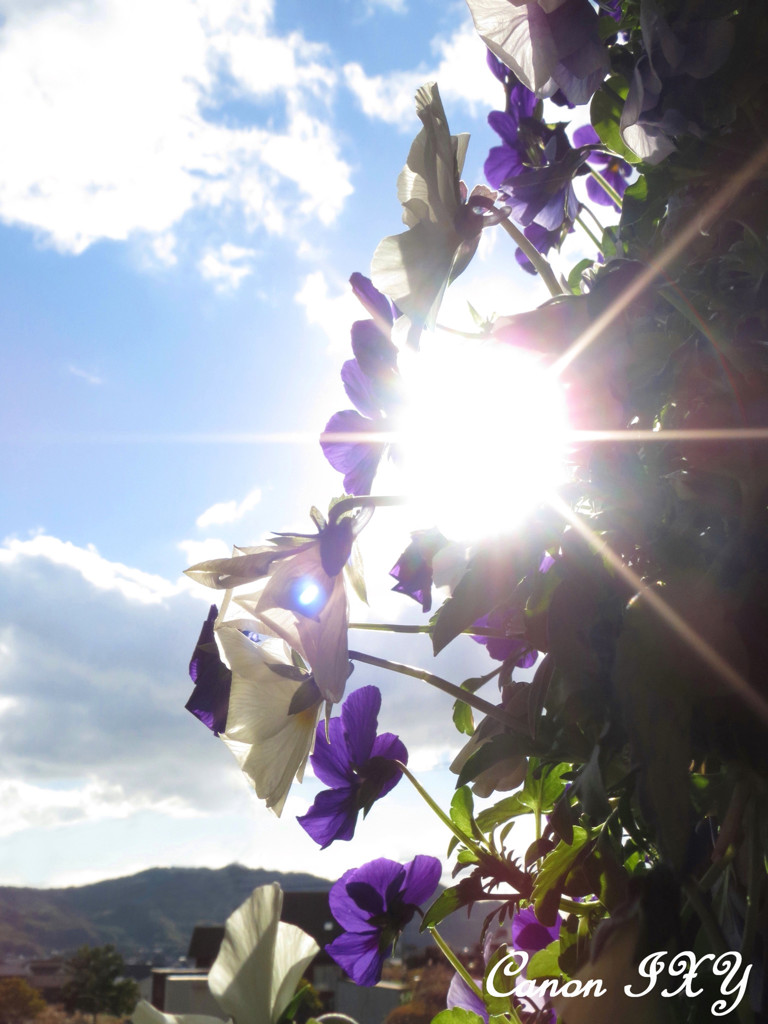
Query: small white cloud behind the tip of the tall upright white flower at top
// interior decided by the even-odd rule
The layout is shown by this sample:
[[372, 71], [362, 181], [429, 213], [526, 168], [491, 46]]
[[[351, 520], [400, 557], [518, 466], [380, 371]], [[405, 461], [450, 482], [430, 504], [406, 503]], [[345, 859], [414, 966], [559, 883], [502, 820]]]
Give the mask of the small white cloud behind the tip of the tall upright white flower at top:
[[[408, 134], [418, 126], [414, 95], [424, 82], [437, 82], [446, 104], [465, 106], [472, 116], [503, 105], [503, 92], [485, 63], [485, 46], [471, 20], [432, 44], [434, 59], [413, 71], [367, 75], [359, 63], [344, 66], [344, 79], [370, 118], [396, 125]], [[461, 125], [452, 124], [461, 131]]]

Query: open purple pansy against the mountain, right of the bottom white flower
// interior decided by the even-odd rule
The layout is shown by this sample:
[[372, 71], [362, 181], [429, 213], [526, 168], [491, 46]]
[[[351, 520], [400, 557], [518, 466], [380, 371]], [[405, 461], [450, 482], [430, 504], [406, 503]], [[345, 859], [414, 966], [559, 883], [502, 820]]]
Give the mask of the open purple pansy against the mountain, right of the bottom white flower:
[[375, 985], [394, 940], [440, 880], [436, 857], [408, 864], [386, 857], [345, 871], [331, 889], [331, 912], [344, 932], [326, 951], [357, 985]]

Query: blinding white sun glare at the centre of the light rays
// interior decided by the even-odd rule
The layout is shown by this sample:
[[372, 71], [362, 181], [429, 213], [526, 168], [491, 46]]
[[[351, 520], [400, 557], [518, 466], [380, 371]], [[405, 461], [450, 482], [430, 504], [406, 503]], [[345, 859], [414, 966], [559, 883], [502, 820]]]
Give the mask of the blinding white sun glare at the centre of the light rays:
[[450, 336], [400, 353], [407, 493], [455, 540], [508, 531], [564, 479], [565, 403], [530, 353]]

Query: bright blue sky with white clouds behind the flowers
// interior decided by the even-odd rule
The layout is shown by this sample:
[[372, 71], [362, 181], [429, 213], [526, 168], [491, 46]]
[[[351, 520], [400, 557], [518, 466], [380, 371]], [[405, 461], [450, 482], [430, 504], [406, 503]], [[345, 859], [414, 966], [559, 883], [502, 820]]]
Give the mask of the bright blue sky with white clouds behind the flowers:
[[[436, 78], [472, 133], [470, 186], [494, 144], [502, 90], [465, 5], [0, 0], [0, 884], [232, 860], [335, 878], [385, 835], [392, 857], [441, 854], [406, 783], [323, 854], [294, 820], [313, 780], [281, 821], [256, 803], [183, 710], [210, 592], [181, 571], [307, 528], [340, 493], [312, 438], [348, 406], [347, 279], [401, 228], [416, 87]], [[540, 301], [503, 237], [455, 291], [457, 310]], [[243, 437], [291, 432], [309, 440]], [[364, 547], [384, 571], [398, 554], [381, 526]], [[411, 614], [377, 586], [374, 617]], [[420, 638], [393, 653], [431, 657]], [[481, 653], [438, 666], [461, 681]], [[447, 698], [353, 681], [383, 683], [384, 727], [447, 799]]]

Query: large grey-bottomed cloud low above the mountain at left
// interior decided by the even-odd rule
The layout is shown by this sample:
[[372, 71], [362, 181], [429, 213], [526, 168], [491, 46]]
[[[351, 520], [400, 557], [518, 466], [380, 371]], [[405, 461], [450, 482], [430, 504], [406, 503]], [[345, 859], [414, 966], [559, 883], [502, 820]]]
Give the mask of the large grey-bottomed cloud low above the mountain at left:
[[237, 797], [223, 744], [183, 707], [204, 614], [179, 584], [90, 546], [0, 547], [0, 819], [17, 830]]

